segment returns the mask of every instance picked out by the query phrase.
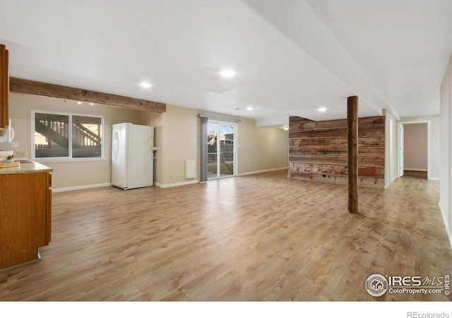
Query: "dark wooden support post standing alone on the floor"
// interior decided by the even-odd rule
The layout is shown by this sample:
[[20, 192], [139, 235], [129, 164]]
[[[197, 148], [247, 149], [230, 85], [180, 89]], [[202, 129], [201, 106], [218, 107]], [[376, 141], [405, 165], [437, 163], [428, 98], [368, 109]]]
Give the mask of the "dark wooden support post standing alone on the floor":
[[348, 211], [358, 213], [358, 97], [347, 98]]

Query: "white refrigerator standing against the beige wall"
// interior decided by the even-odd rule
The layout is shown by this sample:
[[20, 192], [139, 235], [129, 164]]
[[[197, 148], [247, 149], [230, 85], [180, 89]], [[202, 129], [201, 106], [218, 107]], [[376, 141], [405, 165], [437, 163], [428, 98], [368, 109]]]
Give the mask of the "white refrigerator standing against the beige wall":
[[153, 185], [154, 127], [131, 123], [113, 125], [112, 185], [135, 189]]

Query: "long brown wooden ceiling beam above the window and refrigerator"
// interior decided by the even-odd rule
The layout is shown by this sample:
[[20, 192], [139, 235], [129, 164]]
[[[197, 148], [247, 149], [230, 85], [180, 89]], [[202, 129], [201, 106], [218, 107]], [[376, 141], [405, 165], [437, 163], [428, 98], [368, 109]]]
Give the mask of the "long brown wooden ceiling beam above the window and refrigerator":
[[139, 100], [108, 93], [94, 92], [82, 88], [71, 88], [37, 81], [28, 81], [21, 78], [9, 78], [9, 90], [15, 93], [48, 96], [65, 100], [78, 100], [93, 102], [95, 104], [126, 108], [128, 110], [141, 110], [144, 112], [166, 112], [166, 105], [162, 102]]

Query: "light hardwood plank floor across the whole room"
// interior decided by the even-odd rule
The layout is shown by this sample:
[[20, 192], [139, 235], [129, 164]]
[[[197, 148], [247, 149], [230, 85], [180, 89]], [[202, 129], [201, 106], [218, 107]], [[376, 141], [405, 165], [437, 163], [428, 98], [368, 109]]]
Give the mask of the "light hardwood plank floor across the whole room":
[[1, 300], [451, 300], [364, 289], [373, 273], [444, 276], [452, 252], [439, 182], [389, 189], [287, 179], [54, 194], [42, 261], [0, 273]]

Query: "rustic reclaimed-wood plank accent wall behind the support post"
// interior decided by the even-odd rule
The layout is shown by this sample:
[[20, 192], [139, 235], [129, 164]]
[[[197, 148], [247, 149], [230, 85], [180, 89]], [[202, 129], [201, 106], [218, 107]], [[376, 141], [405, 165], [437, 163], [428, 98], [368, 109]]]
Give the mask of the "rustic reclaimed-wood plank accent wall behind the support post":
[[[384, 188], [385, 118], [358, 119], [358, 184]], [[289, 121], [289, 177], [347, 184], [347, 119]]]

